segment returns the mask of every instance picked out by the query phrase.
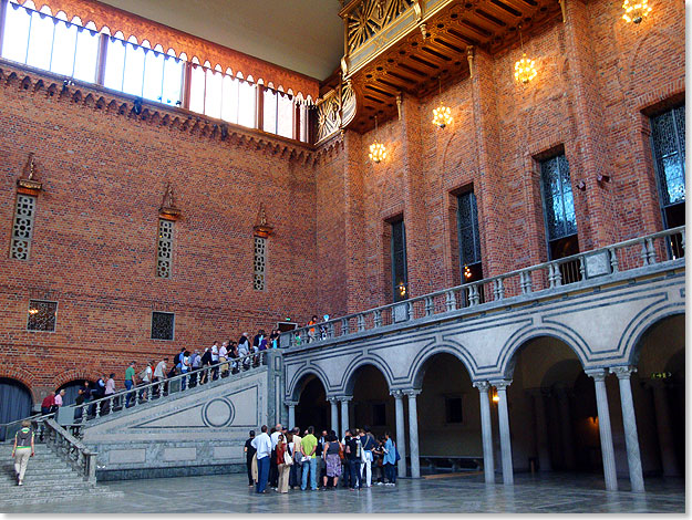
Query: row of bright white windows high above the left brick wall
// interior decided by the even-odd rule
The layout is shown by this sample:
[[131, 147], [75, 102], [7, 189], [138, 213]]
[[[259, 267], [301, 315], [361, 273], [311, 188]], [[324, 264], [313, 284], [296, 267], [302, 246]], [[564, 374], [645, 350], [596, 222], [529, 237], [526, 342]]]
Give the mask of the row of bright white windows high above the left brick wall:
[[151, 48], [145, 40], [127, 41], [121, 32], [99, 32], [93, 22], [55, 17], [16, 0], [0, 0], [0, 55], [7, 60], [96, 83], [172, 106], [182, 106], [217, 119], [308, 142], [308, 110], [293, 95], [258, 85], [209, 62], [192, 62], [172, 49]]

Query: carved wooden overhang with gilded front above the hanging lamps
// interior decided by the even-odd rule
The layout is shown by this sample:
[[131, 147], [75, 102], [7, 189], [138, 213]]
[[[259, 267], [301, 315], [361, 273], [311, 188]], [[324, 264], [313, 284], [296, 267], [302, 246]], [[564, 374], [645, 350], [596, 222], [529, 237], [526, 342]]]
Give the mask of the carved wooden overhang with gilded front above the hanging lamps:
[[[437, 91], [438, 77], [445, 84], [468, 76], [469, 46], [494, 54], [518, 44], [519, 25], [526, 40], [546, 24], [561, 20], [558, 0], [451, 1], [428, 18], [423, 12], [423, 17], [419, 18], [413, 28], [409, 23], [405, 34], [400, 34], [397, 41], [386, 48], [391, 42], [383, 42], [382, 39], [388, 37], [388, 24], [394, 25], [397, 22], [384, 18], [386, 12], [391, 13], [393, 8], [401, 12], [413, 10], [421, 3], [424, 2], [354, 0], [342, 10], [341, 15], [347, 22], [347, 67], [351, 66], [349, 54], [355, 56], [358, 52], [362, 52], [363, 43], [368, 41], [368, 38], [363, 39], [364, 31], [372, 39], [371, 49], [374, 49], [366, 51], [372, 54], [370, 56], [353, 58], [354, 63], [361, 61], [358, 70], [353, 71], [351, 66], [344, 75], [351, 81], [358, 98], [358, 112], [349, 125], [350, 128], [360, 133], [368, 132], [374, 127], [375, 114], [380, 122], [395, 116], [399, 93], [424, 97]], [[345, 12], [349, 9], [351, 11]], [[399, 20], [404, 18], [397, 11], [394, 14]], [[375, 21], [380, 18], [380, 24], [372, 27], [368, 17]], [[423, 22], [425, 38], [421, 27]], [[378, 42], [378, 39], [381, 41]], [[385, 49], [382, 51], [382, 48]]]

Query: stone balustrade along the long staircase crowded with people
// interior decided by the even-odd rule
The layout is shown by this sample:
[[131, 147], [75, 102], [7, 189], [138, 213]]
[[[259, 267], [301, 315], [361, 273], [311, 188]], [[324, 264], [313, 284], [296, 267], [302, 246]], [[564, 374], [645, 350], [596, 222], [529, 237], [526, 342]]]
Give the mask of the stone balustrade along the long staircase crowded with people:
[[[73, 408], [74, 415], [70, 416], [71, 423], [87, 423], [102, 416], [130, 409], [152, 401], [157, 401], [172, 394], [188, 392], [200, 385], [206, 385], [213, 381], [231, 377], [235, 374], [252, 371], [267, 364], [266, 354], [268, 351], [258, 351], [242, 357], [229, 357], [223, 363], [204, 366], [185, 374], [168, 377], [145, 385], [133, 386], [131, 389], [123, 389], [114, 394], [93, 399], [81, 405], [70, 405], [65, 408]], [[64, 413], [58, 415], [62, 423]]]

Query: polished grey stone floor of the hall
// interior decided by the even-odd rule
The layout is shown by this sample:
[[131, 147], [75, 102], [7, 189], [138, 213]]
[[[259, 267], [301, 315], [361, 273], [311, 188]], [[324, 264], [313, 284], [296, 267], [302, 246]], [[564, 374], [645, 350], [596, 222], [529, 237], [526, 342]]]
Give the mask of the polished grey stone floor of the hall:
[[373, 486], [349, 491], [268, 490], [256, 495], [245, 475], [162, 478], [104, 482], [122, 490], [124, 498], [55, 501], [31, 506], [2, 506], [0, 512], [51, 513], [165, 513], [165, 512], [242, 512], [242, 513], [633, 513], [685, 512], [684, 480], [647, 479], [645, 493], [629, 491], [620, 480], [620, 491], [603, 490], [597, 476], [516, 475], [514, 486], [486, 486], [481, 474], [444, 478], [401, 479], [396, 487]]

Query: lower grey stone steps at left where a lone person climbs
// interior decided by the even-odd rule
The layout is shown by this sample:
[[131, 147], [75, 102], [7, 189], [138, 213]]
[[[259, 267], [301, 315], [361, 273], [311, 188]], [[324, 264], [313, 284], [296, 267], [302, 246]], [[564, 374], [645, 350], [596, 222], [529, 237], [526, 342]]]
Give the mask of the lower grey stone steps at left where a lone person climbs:
[[81, 497], [123, 497], [122, 491], [87, 482], [69, 462], [43, 444], [35, 445], [35, 455], [29, 460], [23, 486], [18, 486], [14, 460], [10, 458], [12, 445], [4, 443], [0, 446], [0, 512], [3, 506], [74, 500]]

